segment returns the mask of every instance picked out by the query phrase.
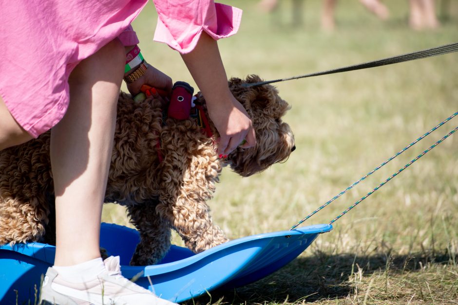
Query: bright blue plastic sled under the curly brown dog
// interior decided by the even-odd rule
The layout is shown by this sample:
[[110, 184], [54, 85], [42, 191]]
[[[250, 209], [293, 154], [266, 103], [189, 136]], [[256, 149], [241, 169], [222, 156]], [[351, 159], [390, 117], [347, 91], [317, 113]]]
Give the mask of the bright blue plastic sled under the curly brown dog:
[[[135, 283], [164, 299], [182, 302], [215, 288], [241, 287], [280, 269], [301, 254], [319, 233], [331, 225], [252, 235], [194, 254], [172, 246], [160, 262], [152, 266], [129, 266], [139, 242], [134, 229], [102, 223], [100, 246], [110, 255], [119, 255], [122, 274], [138, 277]], [[34, 302], [34, 286], [40, 286], [41, 274], [54, 262], [56, 248], [28, 243], [0, 247], [0, 304]], [[153, 283], [153, 286], [150, 284]], [[18, 293], [15, 292], [18, 291]]]

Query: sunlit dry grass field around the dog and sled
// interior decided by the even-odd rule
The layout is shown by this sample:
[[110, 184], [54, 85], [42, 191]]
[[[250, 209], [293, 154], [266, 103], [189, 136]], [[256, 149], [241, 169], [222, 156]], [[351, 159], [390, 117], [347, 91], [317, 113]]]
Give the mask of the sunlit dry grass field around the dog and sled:
[[[358, 1], [340, 1], [337, 31], [319, 26], [320, 1], [306, 1], [305, 24], [289, 25], [290, 1], [262, 13], [244, 9], [239, 33], [220, 40], [228, 76], [265, 79], [342, 67], [458, 41], [458, 3], [436, 31], [407, 27], [407, 1], [385, 1], [383, 22]], [[440, 3], [441, 1], [439, 1]], [[134, 21], [142, 53], [173, 80], [192, 82], [179, 54], [152, 41], [153, 5]], [[223, 171], [211, 200], [231, 238], [286, 230], [365, 173], [458, 110], [458, 54], [279, 83], [297, 149], [288, 161], [250, 178]], [[195, 84], [194, 84], [195, 85]], [[454, 119], [387, 164], [304, 225], [327, 223], [457, 126]], [[188, 304], [458, 304], [458, 136], [364, 200], [296, 260], [236, 291]], [[106, 205], [103, 220], [128, 225]], [[174, 236], [174, 242], [181, 244]]]

